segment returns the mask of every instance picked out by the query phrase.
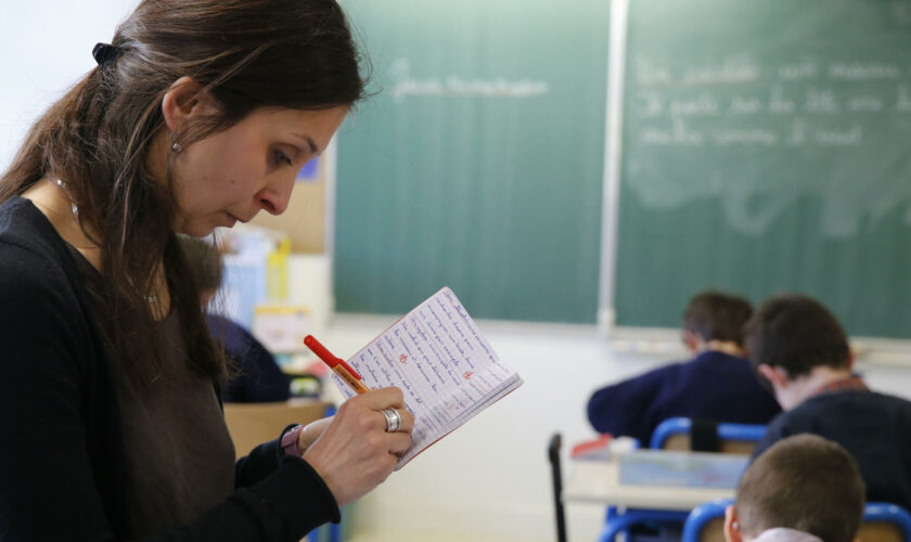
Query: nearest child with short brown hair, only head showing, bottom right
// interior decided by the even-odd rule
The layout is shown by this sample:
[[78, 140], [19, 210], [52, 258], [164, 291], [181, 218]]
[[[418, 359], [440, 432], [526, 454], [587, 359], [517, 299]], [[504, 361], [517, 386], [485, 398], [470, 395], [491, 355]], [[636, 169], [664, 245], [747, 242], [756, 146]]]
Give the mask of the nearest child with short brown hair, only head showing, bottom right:
[[854, 457], [814, 435], [780, 440], [741, 478], [724, 514], [728, 542], [850, 542], [863, 518]]

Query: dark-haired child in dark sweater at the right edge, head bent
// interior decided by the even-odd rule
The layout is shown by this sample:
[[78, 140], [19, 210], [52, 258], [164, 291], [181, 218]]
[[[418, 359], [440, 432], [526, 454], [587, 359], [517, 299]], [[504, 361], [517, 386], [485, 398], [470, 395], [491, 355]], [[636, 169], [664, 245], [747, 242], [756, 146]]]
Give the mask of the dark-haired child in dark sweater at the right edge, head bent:
[[749, 321], [746, 345], [784, 409], [754, 456], [790, 435], [820, 435], [857, 460], [868, 501], [911, 508], [911, 402], [871, 391], [851, 374], [847, 337], [825, 307], [801, 295], [772, 297]]

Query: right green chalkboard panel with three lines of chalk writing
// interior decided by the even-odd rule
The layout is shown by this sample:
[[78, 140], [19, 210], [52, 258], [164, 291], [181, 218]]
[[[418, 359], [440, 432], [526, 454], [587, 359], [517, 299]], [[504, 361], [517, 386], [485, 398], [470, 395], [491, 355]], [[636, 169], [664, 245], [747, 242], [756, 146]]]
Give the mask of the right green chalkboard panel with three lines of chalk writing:
[[708, 287], [911, 337], [911, 2], [631, 0], [619, 325]]

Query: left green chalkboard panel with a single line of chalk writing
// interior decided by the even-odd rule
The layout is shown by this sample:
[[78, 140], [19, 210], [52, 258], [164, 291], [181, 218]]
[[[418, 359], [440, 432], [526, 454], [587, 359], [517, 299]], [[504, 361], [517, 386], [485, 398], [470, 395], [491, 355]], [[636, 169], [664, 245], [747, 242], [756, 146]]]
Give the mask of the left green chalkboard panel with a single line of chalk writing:
[[343, 2], [380, 90], [338, 136], [342, 312], [450, 286], [475, 318], [594, 322], [608, 2]]

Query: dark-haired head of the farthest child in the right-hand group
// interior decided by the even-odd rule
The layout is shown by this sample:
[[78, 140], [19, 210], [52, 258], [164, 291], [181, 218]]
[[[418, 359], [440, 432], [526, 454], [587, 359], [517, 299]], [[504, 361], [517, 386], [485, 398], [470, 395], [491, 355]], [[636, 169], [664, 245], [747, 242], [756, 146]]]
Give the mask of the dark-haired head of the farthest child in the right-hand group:
[[750, 314], [753, 307], [743, 297], [703, 292], [693, 296], [683, 311], [683, 331], [704, 343], [718, 340], [742, 347], [743, 326]]

